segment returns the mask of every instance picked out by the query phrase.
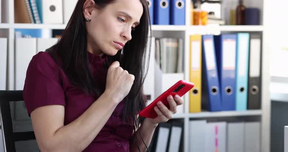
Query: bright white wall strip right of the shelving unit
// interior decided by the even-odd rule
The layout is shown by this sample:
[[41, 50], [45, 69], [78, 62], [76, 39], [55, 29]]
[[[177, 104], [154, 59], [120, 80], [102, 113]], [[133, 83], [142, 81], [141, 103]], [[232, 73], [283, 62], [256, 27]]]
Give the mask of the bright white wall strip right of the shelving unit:
[[266, 32], [270, 37], [270, 75], [288, 77], [288, 0], [271, 0], [268, 3], [265, 19]]

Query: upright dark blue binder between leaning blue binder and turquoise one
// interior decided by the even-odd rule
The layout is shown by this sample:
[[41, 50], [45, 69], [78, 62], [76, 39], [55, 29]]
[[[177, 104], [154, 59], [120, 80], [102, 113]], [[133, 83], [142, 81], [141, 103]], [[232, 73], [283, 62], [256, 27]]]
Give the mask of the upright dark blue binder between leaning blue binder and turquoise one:
[[215, 36], [222, 110], [235, 110], [236, 34]]

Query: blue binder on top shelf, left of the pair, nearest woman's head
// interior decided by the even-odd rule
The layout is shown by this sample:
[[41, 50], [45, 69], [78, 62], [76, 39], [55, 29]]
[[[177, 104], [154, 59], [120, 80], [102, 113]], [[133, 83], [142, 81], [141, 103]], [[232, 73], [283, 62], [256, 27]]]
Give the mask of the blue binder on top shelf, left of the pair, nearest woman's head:
[[154, 24], [169, 25], [169, 5], [168, 0], [154, 0]]

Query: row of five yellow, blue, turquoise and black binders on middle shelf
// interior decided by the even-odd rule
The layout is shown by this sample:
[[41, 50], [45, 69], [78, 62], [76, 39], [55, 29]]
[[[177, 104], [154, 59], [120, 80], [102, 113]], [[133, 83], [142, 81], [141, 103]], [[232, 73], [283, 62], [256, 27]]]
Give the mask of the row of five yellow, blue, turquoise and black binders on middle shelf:
[[261, 37], [190, 36], [189, 112], [260, 109]]

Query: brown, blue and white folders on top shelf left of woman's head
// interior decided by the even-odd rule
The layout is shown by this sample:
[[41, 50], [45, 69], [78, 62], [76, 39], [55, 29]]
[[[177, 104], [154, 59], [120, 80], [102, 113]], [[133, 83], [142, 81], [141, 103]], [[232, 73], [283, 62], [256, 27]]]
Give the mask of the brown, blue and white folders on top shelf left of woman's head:
[[78, 0], [14, 0], [15, 23], [68, 23]]

